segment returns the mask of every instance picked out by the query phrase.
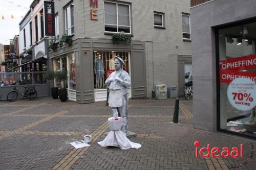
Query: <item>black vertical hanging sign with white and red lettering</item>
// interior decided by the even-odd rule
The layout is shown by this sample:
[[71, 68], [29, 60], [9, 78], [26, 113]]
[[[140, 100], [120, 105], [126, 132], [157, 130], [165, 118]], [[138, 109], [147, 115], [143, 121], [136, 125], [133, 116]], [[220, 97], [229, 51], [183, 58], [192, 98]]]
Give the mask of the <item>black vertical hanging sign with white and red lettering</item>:
[[55, 36], [54, 2], [45, 1], [45, 34]]

